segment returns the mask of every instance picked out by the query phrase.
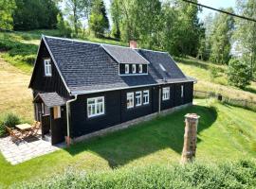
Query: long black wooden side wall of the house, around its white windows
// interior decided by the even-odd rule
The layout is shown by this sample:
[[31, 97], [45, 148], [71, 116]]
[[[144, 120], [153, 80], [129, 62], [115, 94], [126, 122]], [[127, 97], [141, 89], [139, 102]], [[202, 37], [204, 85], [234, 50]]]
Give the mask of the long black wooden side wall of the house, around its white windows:
[[[192, 82], [182, 83], [184, 85], [184, 97], [180, 96], [181, 84], [169, 84], [163, 85], [170, 86], [171, 96], [170, 100], [162, 101], [161, 97], [161, 110], [173, 108], [192, 102]], [[78, 99], [71, 103], [71, 124], [70, 124], [70, 136], [78, 137], [84, 134], [88, 134], [100, 129], [106, 129], [111, 126], [136, 119], [138, 117], [151, 114], [158, 111], [158, 99], [159, 88], [163, 86], [144, 87], [137, 89], [105, 92], [98, 94], [82, 94], [78, 96]], [[150, 103], [148, 105], [141, 105], [132, 109], [126, 107], [126, 94], [129, 92], [137, 92], [149, 90], [150, 91]], [[88, 118], [87, 117], [87, 98], [104, 96], [105, 113], [103, 115]], [[135, 95], [134, 95], [135, 97]], [[134, 99], [136, 106], [136, 101]]]

